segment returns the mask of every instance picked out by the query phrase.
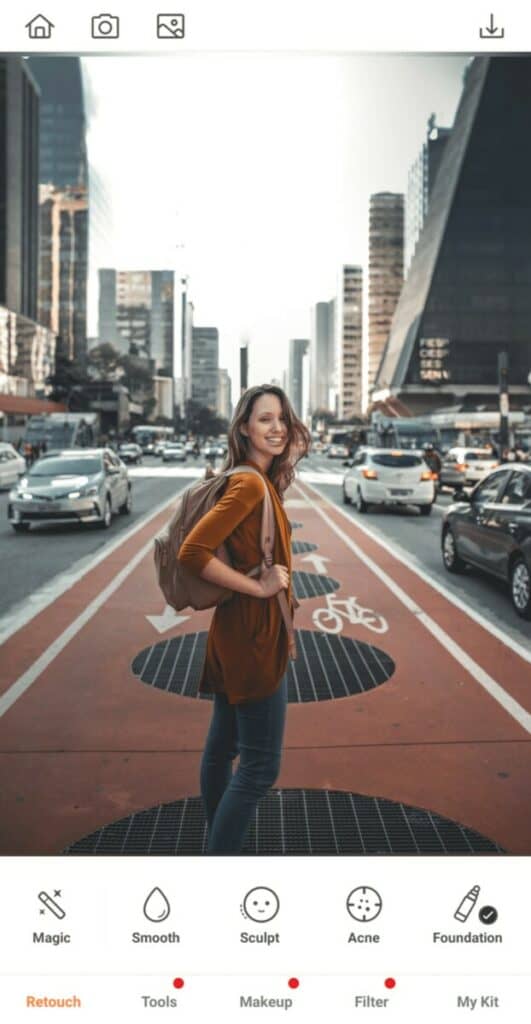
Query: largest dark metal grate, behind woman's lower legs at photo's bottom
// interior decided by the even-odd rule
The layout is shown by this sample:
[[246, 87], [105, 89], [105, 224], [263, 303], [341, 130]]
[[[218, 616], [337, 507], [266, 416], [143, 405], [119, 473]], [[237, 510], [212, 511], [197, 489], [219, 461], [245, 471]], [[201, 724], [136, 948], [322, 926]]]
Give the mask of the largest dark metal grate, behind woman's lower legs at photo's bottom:
[[[162, 804], [104, 825], [68, 855], [194, 856], [205, 853], [200, 797]], [[381, 797], [329, 790], [273, 790], [257, 808], [248, 855], [492, 854], [496, 843], [448, 818]]]

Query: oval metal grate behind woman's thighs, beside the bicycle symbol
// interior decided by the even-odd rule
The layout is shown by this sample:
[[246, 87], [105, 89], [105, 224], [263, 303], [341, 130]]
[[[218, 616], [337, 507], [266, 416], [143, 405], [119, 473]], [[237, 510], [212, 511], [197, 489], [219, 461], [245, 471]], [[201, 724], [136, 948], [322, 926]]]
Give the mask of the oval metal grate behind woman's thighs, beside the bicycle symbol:
[[[287, 668], [292, 703], [335, 700], [374, 689], [395, 671], [393, 659], [368, 643], [313, 630], [297, 630], [299, 657]], [[132, 670], [143, 683], [178, 696], [212, 699], [198, 693], [207, 633], [186, 633], [146, 647]]]

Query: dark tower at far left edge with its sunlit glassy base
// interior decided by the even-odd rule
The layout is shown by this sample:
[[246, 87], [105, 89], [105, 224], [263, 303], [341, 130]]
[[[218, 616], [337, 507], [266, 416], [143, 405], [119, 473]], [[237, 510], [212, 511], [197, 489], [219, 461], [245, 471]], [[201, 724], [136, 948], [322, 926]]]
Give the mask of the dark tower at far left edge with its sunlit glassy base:
[[[0, 412], [38, 412], [55, 337], [37, 322], [39, 237], [39, 90], [27, 61], [0, 57]], [[45, 411], [45, 407], [42, 407]]]

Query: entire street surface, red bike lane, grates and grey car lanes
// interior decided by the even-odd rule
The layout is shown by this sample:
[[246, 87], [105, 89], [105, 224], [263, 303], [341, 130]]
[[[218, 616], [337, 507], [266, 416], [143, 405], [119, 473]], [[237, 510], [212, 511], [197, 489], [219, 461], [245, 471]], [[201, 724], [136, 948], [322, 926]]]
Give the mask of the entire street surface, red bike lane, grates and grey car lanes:
[[[106, 531], [15, 536], [2, 520], [3, 853], [202, 852], [212, 612], [165, 609], [151, 557], [172, 496], [202, 471], [145, 459], [133, 516]], [[361, 516], [343, 473], [311, 456], [286, 496], [299, 657], [248, 852], [529, 854], [529, 625], [503, 588], [444, 572], [449, 496], [426, 518]]]

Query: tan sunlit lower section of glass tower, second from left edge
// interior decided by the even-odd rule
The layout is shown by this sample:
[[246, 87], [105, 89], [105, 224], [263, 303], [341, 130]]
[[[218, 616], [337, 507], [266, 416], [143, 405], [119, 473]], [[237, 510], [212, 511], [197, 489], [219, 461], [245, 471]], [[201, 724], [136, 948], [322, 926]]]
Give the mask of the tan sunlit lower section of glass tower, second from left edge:
[[39, 323], [81, 364], [87, 337], [88, 203], [84, 185], [39, 186]]

